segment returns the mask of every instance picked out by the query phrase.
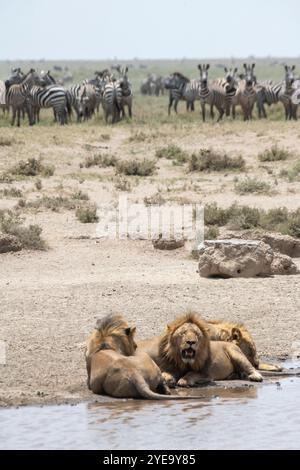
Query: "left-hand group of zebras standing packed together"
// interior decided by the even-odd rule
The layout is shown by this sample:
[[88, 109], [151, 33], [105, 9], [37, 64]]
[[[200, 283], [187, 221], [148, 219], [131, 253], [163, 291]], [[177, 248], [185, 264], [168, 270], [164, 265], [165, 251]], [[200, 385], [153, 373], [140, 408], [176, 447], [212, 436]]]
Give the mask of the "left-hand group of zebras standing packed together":
[[72, 85], [68, 89], [55, 82], [50, 72], [38, 74], [34, 69], [24, 74], [20, 68], [12, 70], [11, 77], [0, 81], [0, 106], [3, 113], [12, 110], [14, 125], [20, 126], [21, 118], [28, 116], [30, 125], [40, 120], [40, 110], [52, 108], [56, 122], [67, 124], [76, 113], [77, 121], [90, 119], [104, 109], [106, 122], [112, 123], [132, 117], [132, 86], [128, 79], [128, 67], [118, 67], [118, 78], [108, 69], [95, 72], [95, 78]]

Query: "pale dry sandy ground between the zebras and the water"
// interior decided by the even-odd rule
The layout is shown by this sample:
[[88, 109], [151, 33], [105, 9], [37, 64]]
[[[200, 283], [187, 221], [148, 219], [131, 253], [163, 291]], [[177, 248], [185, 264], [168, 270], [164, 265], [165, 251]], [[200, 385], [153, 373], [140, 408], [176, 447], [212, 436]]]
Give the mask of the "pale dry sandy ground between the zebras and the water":
[[[68, 197], [79, 190], [96, 203], [117, 201], [119, 180], [114, 169], [80, 169], [86, 157], [102, 153], [118, 159], [155, 158], [156, 149], [177, 144], [188, 152], [212, 147], [242, 155], [245, 174], [271, 184], [272, 194], [238, 196], [234, 185], [245, 174], [191, 175], [184, 166], [159, 160], [154, 176], [127, 178], [131, 200], [142, 201], [159, 191], [167, 200], [221, 206], [234, 201], [260, 208], [300, 206], [300, 183], [280, 177], [282, 169], [299, 161], [298, 123], [203, 125], [179, 117], [151, 126], [82, 124], [0, 132], [0, 140], [11, 140], [9, 146], [0, 145], [0, 172], [31, 157], [55, 165], [54, 176], [39, 177], [39, 191], [38, 178], [0, 184], [0, 191], [21, 189], [26, 201], [41, 195]], [[141, 132], [144, 135], [137, 137]], [[289, 149], [291, 158], [260, 163], [257, 154], [276, 143]], [[16, 203], [17, 199], [3, 197], [0, 209]], [[28, 223], [43, 228], [49, 249], [0, 255], [0, 340], [7, 343], [7, 365], [0, 365], [0, 405], [88, 398], [83, 343], [95, 319], [109, 312], [123, 312], [137, 325], [141, 338], [161, 332], [186, 309], [196, 309], [207, 318], [244, 322], [259, 352], [267, 357], [286, 357], [291, 344], [300, 339], [299, 276], [200, 279], [197, 263], [185, 249], [166, 253], [155, 251], [151, 242], [96, 240], [96, 225], [81, 224], [74, 211], [25, 208], [23, 215]]]

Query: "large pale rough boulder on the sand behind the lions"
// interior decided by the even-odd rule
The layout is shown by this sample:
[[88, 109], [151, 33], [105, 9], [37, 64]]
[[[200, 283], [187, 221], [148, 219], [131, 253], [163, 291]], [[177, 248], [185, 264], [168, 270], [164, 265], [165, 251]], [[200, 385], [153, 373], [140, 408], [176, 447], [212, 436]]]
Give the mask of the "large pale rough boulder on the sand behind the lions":
[[225, 279], [269, 276], [273, 259], [272, 248], [260, 241], [209, 241], [200, 250], [199, 274]]

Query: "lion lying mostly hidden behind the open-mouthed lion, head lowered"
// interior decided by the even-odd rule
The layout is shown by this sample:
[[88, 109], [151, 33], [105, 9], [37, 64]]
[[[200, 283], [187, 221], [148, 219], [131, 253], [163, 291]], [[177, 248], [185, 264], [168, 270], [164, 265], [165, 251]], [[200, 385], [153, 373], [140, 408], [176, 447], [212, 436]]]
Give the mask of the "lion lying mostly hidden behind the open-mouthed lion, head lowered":
[[282, 371], [282, 367], [265, 364], [259, 360], [253, 338], [244, 325], [209, 320], [207, 331], [211, 341], [228, 341], [236, 344], [256, 369], [267, 372]]

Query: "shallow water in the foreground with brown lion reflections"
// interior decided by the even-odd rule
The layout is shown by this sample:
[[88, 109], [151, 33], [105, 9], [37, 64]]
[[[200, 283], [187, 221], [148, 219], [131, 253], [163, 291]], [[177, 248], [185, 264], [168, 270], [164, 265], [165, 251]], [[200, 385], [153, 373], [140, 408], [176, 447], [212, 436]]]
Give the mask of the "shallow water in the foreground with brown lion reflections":
[[0, 423], [1, 449], [299, 449], [300, 378], [195, 402], [1, 410]]

